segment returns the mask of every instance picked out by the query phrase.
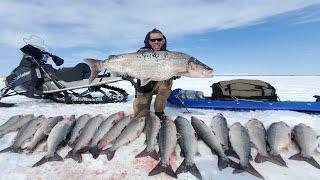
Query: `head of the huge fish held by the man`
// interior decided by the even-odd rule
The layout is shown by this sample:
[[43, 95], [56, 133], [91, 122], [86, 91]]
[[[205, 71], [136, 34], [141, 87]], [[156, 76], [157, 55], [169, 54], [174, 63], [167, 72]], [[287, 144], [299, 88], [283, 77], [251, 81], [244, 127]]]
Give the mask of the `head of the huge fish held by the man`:
[[213, 77], [213, 69], [194, 57], [190, 57], [187, 64], [187, 77], [195, 78], [211, 78]]

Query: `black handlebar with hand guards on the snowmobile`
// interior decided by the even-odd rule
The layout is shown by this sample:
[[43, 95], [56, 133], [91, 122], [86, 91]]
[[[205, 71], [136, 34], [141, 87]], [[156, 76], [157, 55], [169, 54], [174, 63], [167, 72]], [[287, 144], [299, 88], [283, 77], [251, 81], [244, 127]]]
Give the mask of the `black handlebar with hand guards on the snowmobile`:
[[20, 48], [20, 50], [23, 53], [32, 56], [38, 62], [40, 62], [41, 59], [42, 59], [42, 56], [44, 54], [46, 54], [46, 55], [48, 55], [48, 56], [50, 56], [52, 58], [52, 60], [55, 63], [55, 65], [61, 66], [64, 63], [64, 60], [62, 58], [60, 58], [60, 57], [58, 57], [56, 55], [53, 55], [53, 54], [51, 54], [49, 52], [42, 51], [41, 49], [36, 48], [36, 47], [32, 46], [31, 44], [27, 44], [27, 45], [23, 46], [22, 48]]

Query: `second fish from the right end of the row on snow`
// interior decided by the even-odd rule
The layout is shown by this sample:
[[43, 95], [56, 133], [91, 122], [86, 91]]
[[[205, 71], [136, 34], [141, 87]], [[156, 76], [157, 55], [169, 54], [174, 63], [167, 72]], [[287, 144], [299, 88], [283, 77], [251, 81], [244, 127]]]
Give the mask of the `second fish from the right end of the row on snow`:
[[267, 130], [267, 142], [270, 147], [270, 155], [284, 166], [286, 162], [280, 155], [282, 149], [288, 149], [291, 144], [291, 128], [284, 122], [275, 122]]

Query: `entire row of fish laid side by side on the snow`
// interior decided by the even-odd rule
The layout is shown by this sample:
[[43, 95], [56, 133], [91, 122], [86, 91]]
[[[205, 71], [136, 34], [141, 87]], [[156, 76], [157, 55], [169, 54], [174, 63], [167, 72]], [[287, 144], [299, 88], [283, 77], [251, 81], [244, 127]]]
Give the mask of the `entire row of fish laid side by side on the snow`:
[[[291, 144], [292, 137], [300, 148], [300, 153], [290, 159], [303, 160], [320, 169], [320, 165], [313, 158], [318, 144], [316, 133], [312, 128], [299, 124], [292, 130], [284, 122], [276, 122], [266, 131], [257, 119], [249, 120], [245, 127], [240, 123], [234, 123], [228, 127], [222, 114], [214, 116], [210, 126], [193, 116], [191, 123], [181, 116], [178, 116], [175, 121], [167, 117], [165, 121], [160, 122], [154, 114], [133, 118], [132, 115], [126, 115], [123, 111], [109, 117], [102, 114], [94, 117], [84, 114], [78, 118], [16, 115], [0, 126], [0, 137], [9, 132], [18, 131], [13, 144], [1, 152], [22, 152], [25, 149], [33, 152], [42, 140], [47, 139], [47, 154], [33, 167], [48, 161], [62, 161], [63, 158], [57, 154], [57, 150], [67, 144], [72, 147], [72, 150], [66, 158], [81, 162], [81, 153], [89, 151], [93, 158], [103, 153], [107, 155], [108, 160], [111, 160], [119, 147], [138, 138], [144, 129], [146, 148], [136, 157], [150, 156], [159, 160], [160, 156], [160, 162], [149, 173], [150, 176], [165, 172], [172, 177], [177, 177], [177, 174], [189, 171], [202, 179], [194, 162], [198, 153], [196, 137], [201, 138], [212, 152], [217, 154], [219, 170], [232, 167], [235, 169], [234, 173], [247, 171], [263, 179], [263, 176], [250, 164], [251, 145], [253, 144], [258, 151], [255, 162], [270, 161], [286, 167], [280, 152]], [[29, 143], [26, 143], [28, 140]], [[184, 161], [174, 172], [169, 160], [176, 150], [177, 142]], [[156, 152], [157, 144], [159, 154]], [[108, 146], [109, 148], [105, 149]], [[238, 158], [239, 163], [228, 156]]]

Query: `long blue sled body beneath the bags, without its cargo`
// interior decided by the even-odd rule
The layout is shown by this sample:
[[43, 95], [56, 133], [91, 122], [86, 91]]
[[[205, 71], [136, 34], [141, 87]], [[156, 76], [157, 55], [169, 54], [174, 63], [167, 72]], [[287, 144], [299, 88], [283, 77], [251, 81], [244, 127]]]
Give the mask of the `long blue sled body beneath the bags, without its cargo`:
[[320, 102], [306, 101], [223, 101], [212, 99], [183, 99], [179, 98], [182, 89], [171, 91], [168, 101], [178, 107], [204, 109], [239, 109], [239, 110], [294, 110], [320, 112]]

